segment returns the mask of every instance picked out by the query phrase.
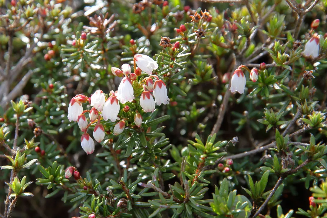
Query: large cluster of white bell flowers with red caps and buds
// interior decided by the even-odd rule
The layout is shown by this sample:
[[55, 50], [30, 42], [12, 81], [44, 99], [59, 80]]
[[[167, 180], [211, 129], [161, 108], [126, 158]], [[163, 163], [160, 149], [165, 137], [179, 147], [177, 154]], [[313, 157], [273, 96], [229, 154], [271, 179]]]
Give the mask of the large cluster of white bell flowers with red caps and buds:
[[[140, 85], [143, 85], [144, 88], [144, 91], [140, 96], [140, 106], [144, 112], [153, 112], [155, 104], [167, 104], [169, 101], [166, 85], [158, 76], [152, 75], [152, 71], [158, 69], [159, 66], [156, 61], [146, 55], [137, 54], [134, 56], [134, 61], [141, 71], [144, 71], [149, 75], [149, 77], [140, 81]], [[95, 141], [100, 143], [105, 137], [104, 126], [100, 123], [101, 117], [103, 120], [110, 120], [111, 122], [120, 120], [118, 117], [120, 111], [119, 102], [125, 104], [126, 102], [132, 102], [135, 98], [132, 80], [136, 79], [136, 72], [131, 74], [131, 67], [129, 64], [123, 64], [121, 69], [112, 67], [111, 70], [113, 75], [119, 77], [125, 75], [116, 92], [110, 91], [109, 97], [106, 99], [106, 95], [102, 90], [96, 90], [90, 98], [79, 94], [73, 97], [69, 103], [67, 117], [69, 121], [77, 121], [80, 130], [84, 132], [81, 137], [81, 146], [87, 154], [93, 153], [95, 145], [93, 139], [87, 133], [88, 127], [97, 121], [94, 127], [93, 137]], [[153, 82], [153, 79], [155, 79], [155, 82]], [[91, 110], [83, 111], [82, 103], [87, 102], [92, 106], [92, 108]], [[90, 123], [84, 113], [89, 113]], [[141, 114], [136, 112], [134, 115], [135, 125], [140, 127], [142, 121]], [[119, 135], [124, 131], [125, 126], [125, 120], [120, 120], [115, 124], [113, 134]]]

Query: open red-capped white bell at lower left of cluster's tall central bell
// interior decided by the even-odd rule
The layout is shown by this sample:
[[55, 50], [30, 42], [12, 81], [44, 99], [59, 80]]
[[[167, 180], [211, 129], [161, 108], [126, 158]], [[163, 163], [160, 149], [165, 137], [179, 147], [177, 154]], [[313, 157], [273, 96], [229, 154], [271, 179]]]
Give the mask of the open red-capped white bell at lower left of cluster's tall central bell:
[[115, 122], [119, 119], [118, 113], [120, 110], [120, 105], [118, 99], [114, 92], [111, 92], [111, 95], [107, 99], [106, 103], [103, 106], [102, 117], [105, 121], [110, 120], [111, 122]]

